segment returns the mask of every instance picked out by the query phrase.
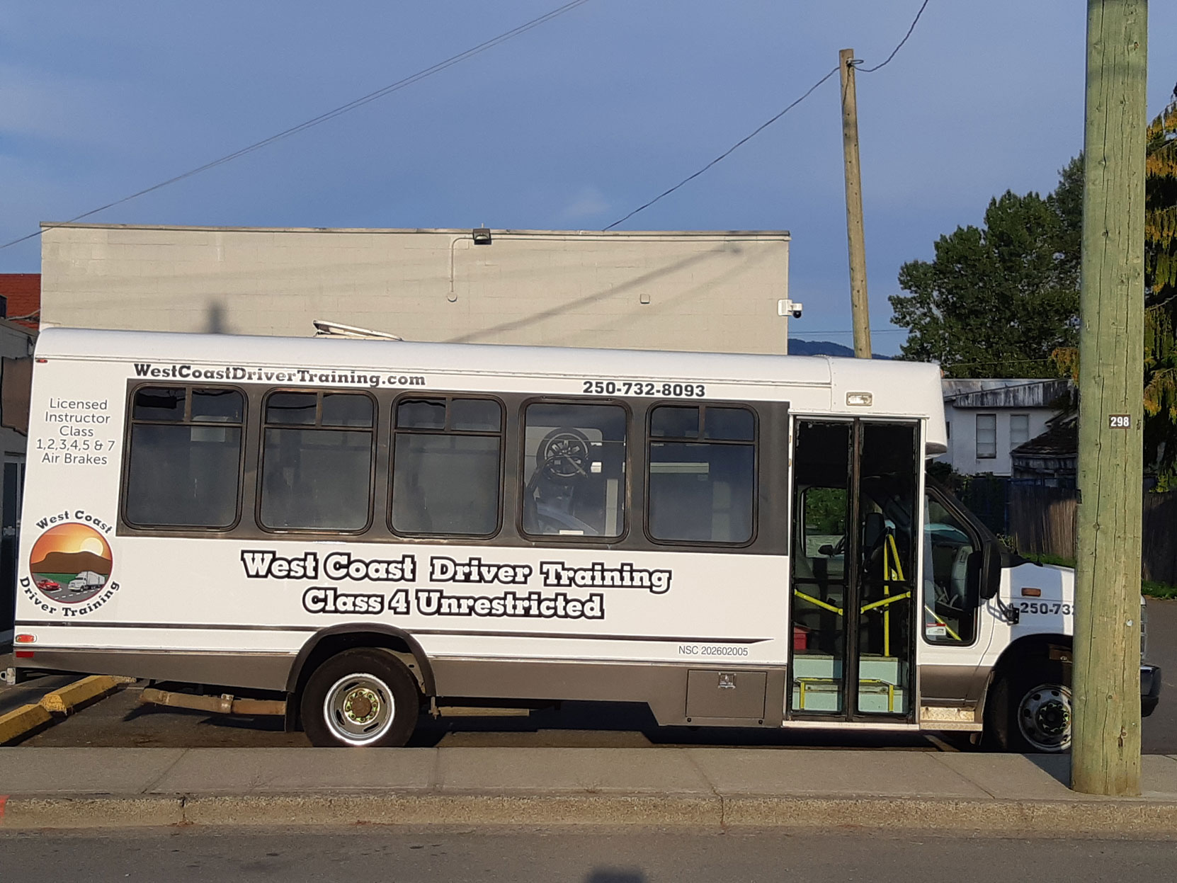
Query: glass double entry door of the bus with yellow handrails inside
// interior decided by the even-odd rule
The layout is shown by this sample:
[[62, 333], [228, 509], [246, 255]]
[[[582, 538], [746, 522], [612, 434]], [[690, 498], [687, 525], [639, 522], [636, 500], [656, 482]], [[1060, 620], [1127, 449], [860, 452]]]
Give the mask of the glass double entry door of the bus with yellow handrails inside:
[[919, 424], [794, 424], [790, 719], [910, 719]]

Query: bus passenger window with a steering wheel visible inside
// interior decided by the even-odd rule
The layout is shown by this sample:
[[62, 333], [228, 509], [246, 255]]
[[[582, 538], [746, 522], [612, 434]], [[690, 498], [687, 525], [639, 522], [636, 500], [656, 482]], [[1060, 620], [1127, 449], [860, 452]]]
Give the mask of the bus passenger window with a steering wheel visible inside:
[[619, 405], [536, 403], [524, 412], [525, 533], [619, 537], [625, 530]]

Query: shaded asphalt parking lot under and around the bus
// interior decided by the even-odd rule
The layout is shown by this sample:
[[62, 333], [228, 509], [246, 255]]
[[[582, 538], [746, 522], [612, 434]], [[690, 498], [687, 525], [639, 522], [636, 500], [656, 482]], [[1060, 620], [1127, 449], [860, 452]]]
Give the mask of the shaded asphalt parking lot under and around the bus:
[[[1145, 753], [1177, 753], [1177, 600], [1149, 600], [1149, 660], [1164, 675], [1161, 705], [1144, 719]], [[71, 678], [38, 678], [0, 690], [0, 713]], [[282, 732], [279, 718], [228, 717], [140, 705], [142, 686], [129, 686], [26, 739], [27, 745], [248, 748], [308, 744], [302, 733]], [[659, 729], [645, 706], [564, 703], [528, 717], [423, 719], [410, 743], [419, 746], [647, 748], [652, 745], [845, 746], [904, 750], [966, 750], [962, 736], [880, 736], [789, 730]], [[2, 877], [0, 877], [2, 878]]]

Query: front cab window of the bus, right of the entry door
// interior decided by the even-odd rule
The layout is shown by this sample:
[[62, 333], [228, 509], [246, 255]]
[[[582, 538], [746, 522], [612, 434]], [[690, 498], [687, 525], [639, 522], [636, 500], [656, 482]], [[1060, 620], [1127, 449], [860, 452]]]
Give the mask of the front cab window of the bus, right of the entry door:
[[933, 644], [971, 644], [976, 599], [967, 591], [969, 529], [930, 496], [924, 497], [924, 638]]

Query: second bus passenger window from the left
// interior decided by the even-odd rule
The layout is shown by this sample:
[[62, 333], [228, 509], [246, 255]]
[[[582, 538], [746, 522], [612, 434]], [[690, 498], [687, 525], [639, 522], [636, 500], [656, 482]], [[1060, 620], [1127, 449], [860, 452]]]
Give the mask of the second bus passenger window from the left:
[[374, 404], [354, 392], [272, 392], [262, 414], [259, 523], [358, 532], [372, 510]]

